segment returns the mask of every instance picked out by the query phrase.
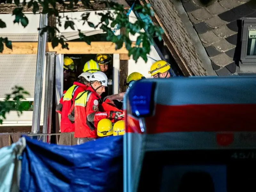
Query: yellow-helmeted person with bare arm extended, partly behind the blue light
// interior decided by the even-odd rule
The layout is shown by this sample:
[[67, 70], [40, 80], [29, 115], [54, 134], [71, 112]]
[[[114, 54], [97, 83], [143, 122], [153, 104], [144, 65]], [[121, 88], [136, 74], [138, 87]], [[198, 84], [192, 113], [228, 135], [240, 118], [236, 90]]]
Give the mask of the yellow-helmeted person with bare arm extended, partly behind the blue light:
[[[124, 85], [127, 87], [127, 90], [129, 89], [129, 84], [135, 81], [138, 81], [140, 79], [145, 79], [146, 77], [144, 77], [142, 74], [138, 73], [138, 72], [133, 72], [131, 73], [126, 81], [124, 82]], [[124, 98], [124, 93], [125, 92], [121, 92], [118, 94], [114, 94], [114, 95], [110, 95], [104, 98], [104, 100], [109, 99], [109, 100], [113, 100], [113, 102], [115, 103], [116, 107], [119, 109], [122, 109], [123, 107], [123, 98]]]

